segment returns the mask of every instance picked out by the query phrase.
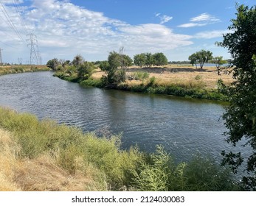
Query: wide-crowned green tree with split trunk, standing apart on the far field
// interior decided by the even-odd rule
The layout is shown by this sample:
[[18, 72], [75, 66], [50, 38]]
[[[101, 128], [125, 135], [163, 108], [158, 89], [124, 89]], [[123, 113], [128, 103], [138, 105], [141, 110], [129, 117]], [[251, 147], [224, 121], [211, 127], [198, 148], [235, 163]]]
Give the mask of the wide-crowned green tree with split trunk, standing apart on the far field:
[[199, 63], [200, 68], [203, 68], [204, 63], [208, 63], [210, 60], [212, 60], [212, 52], [202, 49], [201, 51], [197, 51], [196, 53], [191, 54], [188, 59], [192, 64]]

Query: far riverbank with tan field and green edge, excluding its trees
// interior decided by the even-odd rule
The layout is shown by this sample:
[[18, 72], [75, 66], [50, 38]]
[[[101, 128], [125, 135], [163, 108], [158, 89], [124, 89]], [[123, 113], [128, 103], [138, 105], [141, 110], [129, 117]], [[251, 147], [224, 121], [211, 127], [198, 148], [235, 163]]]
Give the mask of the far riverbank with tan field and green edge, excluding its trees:
[[199, 69], [191, 65], [166, 65], [165, 67], [126, 69], [127, 80], [117, 85], [106, 86], [101, 81], [105, 73], [97, 69], [91, 78], [80, 81], [76, 75], [65, 74], [63, 71], [55, 73], [55, 77], [69, 82], [79, 82], [83, 87], [112, 88], [141, 93], [156, 93], [186, 98], [210, 99], [226, 102], [227, 96], [223, 92], [223, 85], [232, 82], [231, 75], [222, 73], [221, 76], [214, 67]]

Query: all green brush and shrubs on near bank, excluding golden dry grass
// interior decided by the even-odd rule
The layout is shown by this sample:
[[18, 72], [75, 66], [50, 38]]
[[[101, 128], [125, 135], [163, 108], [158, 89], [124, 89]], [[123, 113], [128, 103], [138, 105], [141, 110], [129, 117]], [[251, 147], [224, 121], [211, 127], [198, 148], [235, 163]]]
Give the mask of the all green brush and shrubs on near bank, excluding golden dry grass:
[[[145, 154], [134, 147], [120, 149], [120, 135], [98, 138], [52, 120], [38, 121], [28, 113], [0, 107], [0, 128], [13, 134], [15, 159], [50, 157], [72, 177], [91, 174], [97, 190], [119, 191], [237, 191], [227, 168], [210, 157], [196, 156], [174, 163], [162, 146]], [[0, 147], [1, 148], [1, 147]], [[43, 158], [44, 159], [44, 158]], [[46, 164], [47, 165], [47, 164]], [[40, 177], [39, 177], [40, 178]], [[88, 188], [88, 187], [87, 187]]]

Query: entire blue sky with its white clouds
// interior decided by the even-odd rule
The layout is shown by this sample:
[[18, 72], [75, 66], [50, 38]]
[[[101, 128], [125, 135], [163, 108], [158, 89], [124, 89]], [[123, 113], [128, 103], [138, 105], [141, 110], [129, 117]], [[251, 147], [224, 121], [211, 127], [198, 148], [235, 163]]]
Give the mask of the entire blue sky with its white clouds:
[[[256, 0], [1, 0], [0, 48], [5, 63], [30, 60], [27, 34], [38, 40], [42, 62], [57, 57], [106, 60], [125, 47], [134, 57], [163, 52], [169, 61], [187, 60], [201, 49], [229, 58], [215, 46], [229, 32], [235, 2], [249, 7]], [[8, 18], [10, 17], [10, 18]]]

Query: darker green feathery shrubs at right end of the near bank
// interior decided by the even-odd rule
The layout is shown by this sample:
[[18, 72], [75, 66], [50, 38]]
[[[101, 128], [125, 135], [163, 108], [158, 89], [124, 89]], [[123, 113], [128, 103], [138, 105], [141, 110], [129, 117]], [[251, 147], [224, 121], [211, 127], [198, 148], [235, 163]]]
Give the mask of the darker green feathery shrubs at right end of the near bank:
[[238, 191], [228, 169], [212, 158], [196, 156], [176, 165], [162, 146], [134, 171], [134, 188], [139, 191]]

